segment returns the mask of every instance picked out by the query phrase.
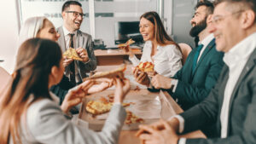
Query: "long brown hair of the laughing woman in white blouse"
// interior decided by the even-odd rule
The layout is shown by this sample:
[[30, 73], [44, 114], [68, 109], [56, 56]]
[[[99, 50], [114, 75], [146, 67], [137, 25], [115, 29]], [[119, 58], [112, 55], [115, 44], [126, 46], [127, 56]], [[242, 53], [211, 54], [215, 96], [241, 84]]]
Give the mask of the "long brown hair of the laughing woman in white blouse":
[[181, 51], [180, 47], [175, 43], [171, 37], [168, 36], [162, 21], [160, 20], [159, 14], [154, 11], [147, 12], [140, 17], [140, 20], [145, 18], [149, 20], [154, 25], [154, 37], [156, 38], [156, 42], [161, 46], [165, 46], [167, 44], [174, 44]]

